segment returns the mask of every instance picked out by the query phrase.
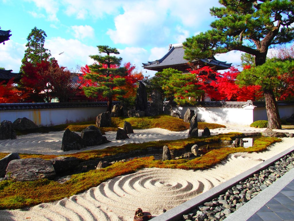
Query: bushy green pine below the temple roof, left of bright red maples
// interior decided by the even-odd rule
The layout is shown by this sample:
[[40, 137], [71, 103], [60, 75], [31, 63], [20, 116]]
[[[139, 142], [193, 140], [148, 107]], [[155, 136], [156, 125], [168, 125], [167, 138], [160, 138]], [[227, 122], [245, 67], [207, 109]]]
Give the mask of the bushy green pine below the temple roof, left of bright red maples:
[[153, 83], [156, 88], [160, 87], [163, 94], [170, 99], [173, 99], [178, 105], [195, 104], [197, 97], [204, 92], [199, 90], [195, 78], [195, 74], [185, 73], [173, 68], [163, 69], [162, 72], [157, 72], [153, 78]]

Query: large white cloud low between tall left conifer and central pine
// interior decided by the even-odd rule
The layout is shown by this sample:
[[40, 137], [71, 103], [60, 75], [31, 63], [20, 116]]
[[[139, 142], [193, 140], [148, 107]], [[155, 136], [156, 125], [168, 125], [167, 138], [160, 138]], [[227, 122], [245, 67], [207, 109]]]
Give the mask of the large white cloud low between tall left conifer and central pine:
[[75, 68], [76, 65], [91, 65], [94, 60], [89, 55], [98, 54], [97, 47], [88, 46], [77, 39], [67, 40], [61, 37], [46, 40], [45, 48], [50, 49], [52, 57], [55, 57], [60, 66], [68, 69]]

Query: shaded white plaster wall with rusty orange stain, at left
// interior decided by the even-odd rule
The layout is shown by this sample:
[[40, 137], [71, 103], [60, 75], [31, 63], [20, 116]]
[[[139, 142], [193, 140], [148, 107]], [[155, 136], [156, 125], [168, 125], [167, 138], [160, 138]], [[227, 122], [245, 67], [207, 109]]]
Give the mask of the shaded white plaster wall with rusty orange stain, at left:
[[103, 112], [106, 112], [106, 107], [2, 110], [0, 111], [0, 122], [4, 120], [14, 122], [17, 118], [26, 117], [34, 121], [38, 126], [52, 126], [71, 122], [91, 121]]

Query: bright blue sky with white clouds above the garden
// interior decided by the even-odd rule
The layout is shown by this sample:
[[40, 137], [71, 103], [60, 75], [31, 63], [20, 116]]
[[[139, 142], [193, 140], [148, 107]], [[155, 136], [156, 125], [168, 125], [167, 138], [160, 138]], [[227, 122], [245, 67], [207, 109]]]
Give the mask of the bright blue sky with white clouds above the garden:
[[[88, 55], [98, 54], [97, 45], [120, 51], [123, 62], [136, 65], [161, 58], [169, 44], [185, 41], [209, 29], [215, 19], [209, 8], [217, 0], [0, 0], [2, 30], [11, 30], [0, 44], [0, 67], [19, 72], [26, 38], [35, 26], [46, 32], [45, 48], [59, 65], [75, 69], [90, 65]], [[61, 52], [61, 55], [59, 55]], [[240, 64], [240, 52], [217, 58]], [[143, 70], [145, 76], [153, 71]]]

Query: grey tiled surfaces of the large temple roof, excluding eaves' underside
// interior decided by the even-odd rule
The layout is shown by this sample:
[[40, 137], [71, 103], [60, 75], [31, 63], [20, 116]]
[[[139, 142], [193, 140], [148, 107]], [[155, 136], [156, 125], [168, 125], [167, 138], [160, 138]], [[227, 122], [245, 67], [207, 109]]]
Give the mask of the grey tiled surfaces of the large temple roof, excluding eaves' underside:
[[[168, 53], [164, 55], [161, 59], [155, 60], [155, 61], [149, 61], [148, 63], [142, 63], [143, 68], [146, 69], [158, 69], [159, 67], [168, 68], [174, 65], [184, 65], [188, 63], [188, 60], [184, 59], [184, 52], [185, 49], [183, 48], [183, 45], [177, 45], [172, 46], [170, 50], [168, 50]], [[231, 67], [231, 63], [226, 63], [222, 61], [218, 61], [215, 58], [205, 58], [200, 59], [198, 61], [201, 61], [205, 63], [208, 66], [216, 66], [218, 69], [228, 69]]]

